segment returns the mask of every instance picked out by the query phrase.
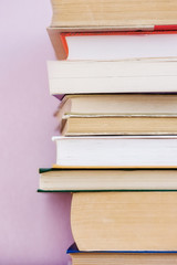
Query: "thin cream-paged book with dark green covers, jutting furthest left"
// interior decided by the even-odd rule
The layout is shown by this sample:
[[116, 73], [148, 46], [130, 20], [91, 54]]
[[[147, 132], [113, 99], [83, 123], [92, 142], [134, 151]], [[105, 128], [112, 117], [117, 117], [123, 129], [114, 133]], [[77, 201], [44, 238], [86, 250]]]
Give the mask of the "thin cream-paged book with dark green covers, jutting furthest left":
[[177, 168], [40, 169], [39, 191], [177, 191]]

